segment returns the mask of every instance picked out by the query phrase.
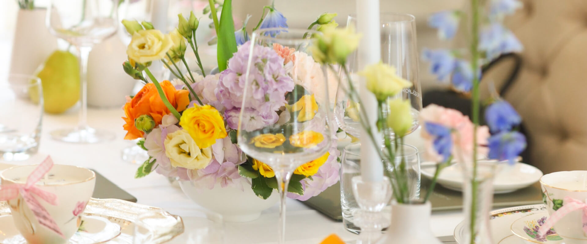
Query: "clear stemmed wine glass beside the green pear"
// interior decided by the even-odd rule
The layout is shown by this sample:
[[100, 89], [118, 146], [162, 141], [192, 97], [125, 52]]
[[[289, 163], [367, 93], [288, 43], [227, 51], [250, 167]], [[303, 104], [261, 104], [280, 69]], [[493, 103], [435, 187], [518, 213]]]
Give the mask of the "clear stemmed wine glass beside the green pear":
[[76, 128], [53, 130], [63, 142], [97, 143], [114, 139], [114, 133], [87, 125], [87, 59], [95, 44], [116, 33], [118, 5], [113, 0], [50, 0], [46, 25], [54, 36], [75, 46], [80, 60], [79, 124]]

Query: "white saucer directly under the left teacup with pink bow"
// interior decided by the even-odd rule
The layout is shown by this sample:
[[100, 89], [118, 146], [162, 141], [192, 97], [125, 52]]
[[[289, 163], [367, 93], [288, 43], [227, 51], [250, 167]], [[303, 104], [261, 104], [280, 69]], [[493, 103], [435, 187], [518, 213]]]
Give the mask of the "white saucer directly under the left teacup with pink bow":
[[[2, 226], [2, 235], [0, 243], [2, 244], [26, 244], [25, 238], [18, 232], [12, 220], [12, 215], [0, 216], [0, 226]], [[79, 231], [73, 234], [68, 244], [96, 244], [112, 240], [120, 235], [120, 225], [108, 221], [108, 219], [99, 216], [82, 216], [82, 224]]]

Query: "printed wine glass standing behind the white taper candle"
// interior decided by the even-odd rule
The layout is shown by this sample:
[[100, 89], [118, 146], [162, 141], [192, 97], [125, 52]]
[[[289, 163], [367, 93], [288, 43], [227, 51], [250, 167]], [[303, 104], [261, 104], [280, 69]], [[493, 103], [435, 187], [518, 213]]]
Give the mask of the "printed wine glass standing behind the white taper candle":
[[[418, 115], [422, 109], [420, 80], [418, 79], [418, 50], [416, 46], [416, 18], [406, 13], [380, 13], [381, 18], [381, 61], [396, 67], [397, 75], [411, 81], [413, 86], [406, 88], [397, 97], [411, 102], [411, 114], [414, 118], [412, 128], [406, 133], [414, 132], [419, 126]], [[347, 25], [356, 26], [356, 16], [349, 15]], [[360, 31], [360, 30], [359, 30]], [[358, 82], [356, 52], [349, 56], [349, 71], [353, 82]], [[345, 94], [346, 78], [343, 78], [336, 92], [334, 114], [342, 130], [359, 138], [359, 104], [351, 101]], [[386, 112], [386, 111], [383, 111]], [[388, 116], [388, 115], [386, 115]], [[389, 115], [392, 116], [392, 115]]]

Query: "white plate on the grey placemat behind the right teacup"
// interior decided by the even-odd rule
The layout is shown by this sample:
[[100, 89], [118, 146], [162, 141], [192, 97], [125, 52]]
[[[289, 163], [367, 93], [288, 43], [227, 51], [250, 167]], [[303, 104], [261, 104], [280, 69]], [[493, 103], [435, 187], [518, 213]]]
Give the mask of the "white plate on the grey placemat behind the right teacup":
[[[436, 163], [423, 162], [421, 167], [422, 175], [429, 179], [436, 171], [436, 167], [431, 164]], [[519, 162], [514, 165], [499, 163], [493, 180], [494, 193], [511, 193], [529, 187], [537, 183], [540, 177], [542, 177], [542, 171], [534, 166]], [[450, 190], [463, 191], [463, 173], [460, 166], [453, 164], [440, 171], [438, 184]]]

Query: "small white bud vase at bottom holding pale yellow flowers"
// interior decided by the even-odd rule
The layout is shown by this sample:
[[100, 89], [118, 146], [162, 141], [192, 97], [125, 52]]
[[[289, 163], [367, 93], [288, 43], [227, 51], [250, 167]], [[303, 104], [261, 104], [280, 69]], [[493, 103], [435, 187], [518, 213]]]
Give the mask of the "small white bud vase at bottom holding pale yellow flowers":
[[392, 222], [377, 244], [441, 244], [430, 228], [430, 202], [425, 204], [392, 203]]

